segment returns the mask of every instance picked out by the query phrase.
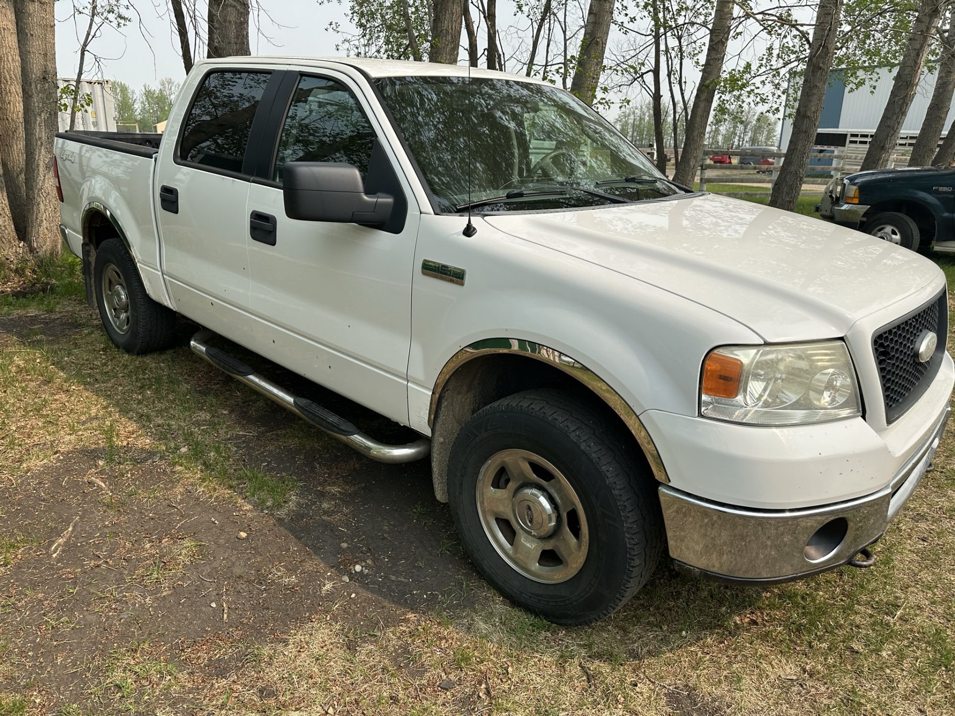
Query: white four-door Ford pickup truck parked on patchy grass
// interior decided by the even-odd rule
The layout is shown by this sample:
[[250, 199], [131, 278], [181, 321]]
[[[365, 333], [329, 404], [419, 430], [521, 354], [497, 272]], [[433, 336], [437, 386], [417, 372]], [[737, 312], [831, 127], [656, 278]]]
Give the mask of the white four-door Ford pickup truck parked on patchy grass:
[[[610, 614], [665, 551], [754, 584], [868, 566], [944, 431], [937, 265], [674, 185], [535, 79], [203, 61], [161, 141], [60, 134], [55, 157], [118, 347], [170, 346], [182, 314], [195, 352], [356, 450], [430, 455], [477, 569], [552, 621]], [[420, 438], [373, 439], [214, 334]]]

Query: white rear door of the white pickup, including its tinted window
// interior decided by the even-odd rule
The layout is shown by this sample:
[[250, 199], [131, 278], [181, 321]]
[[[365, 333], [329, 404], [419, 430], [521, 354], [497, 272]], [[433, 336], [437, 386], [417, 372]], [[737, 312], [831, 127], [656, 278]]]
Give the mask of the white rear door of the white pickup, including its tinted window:
[[246, 346], [253, 339], [245, 202], [257, 138], [282, 74], [218, 68], [203, 75], [179, 137], [161, 145], [154, 186], [176, 309]]

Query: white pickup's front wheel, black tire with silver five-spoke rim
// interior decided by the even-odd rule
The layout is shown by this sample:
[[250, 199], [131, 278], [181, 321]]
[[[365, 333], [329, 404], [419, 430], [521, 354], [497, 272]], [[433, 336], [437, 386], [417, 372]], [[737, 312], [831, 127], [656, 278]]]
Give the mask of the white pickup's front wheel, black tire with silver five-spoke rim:
[[468, 556], [504, 597], [579, 625], [647, 582], [666, 540], [656, 483], [631, 443], [558, 390], [511, 395], [465, 424], [449, 460], [451, 511]]

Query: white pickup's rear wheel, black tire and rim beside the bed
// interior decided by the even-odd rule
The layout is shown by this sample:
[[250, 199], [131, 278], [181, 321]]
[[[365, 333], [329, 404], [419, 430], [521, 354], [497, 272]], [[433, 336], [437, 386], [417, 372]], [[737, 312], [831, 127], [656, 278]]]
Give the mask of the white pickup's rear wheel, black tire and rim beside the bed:
[[108, 239], [96, 249], [93, 284], [99, 318], [117, 347], [139, 355], [173, 344], [176, 313], [149, 297], [133, 257], [119, 239]]

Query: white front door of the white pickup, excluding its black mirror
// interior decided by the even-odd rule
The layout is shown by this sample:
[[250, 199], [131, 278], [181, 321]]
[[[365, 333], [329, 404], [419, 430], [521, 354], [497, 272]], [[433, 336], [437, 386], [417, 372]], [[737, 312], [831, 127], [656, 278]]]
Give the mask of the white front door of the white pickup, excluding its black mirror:
[[[257, 350], [407, 424], [417, 207], [405, 199], [412, 196], [407, 179], [394, 173], [391, 151], [377, 140], [376, 120], [350, 78], [302, 74], [292, 86], [273, 156], [252, 182], [245, 212], [250, 307], [262, 324]], [[269, 123], [278, 126], [275, 119]], [[369, 194], [384, 191], [371, 184], [388, 175], [397, 221], [372, 228], [288, 219], [282, 172], [291, 161], [352, 164]]]

